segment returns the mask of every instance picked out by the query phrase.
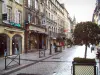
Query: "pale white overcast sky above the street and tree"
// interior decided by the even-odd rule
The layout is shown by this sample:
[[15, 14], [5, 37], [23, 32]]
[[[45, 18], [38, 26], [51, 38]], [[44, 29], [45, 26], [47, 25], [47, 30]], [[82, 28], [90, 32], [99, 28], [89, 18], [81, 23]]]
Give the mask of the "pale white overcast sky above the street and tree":
[[64, 3], [70, 16], [75, 15], [77, 22], [92, 21], [96, 0], [58, 0]]

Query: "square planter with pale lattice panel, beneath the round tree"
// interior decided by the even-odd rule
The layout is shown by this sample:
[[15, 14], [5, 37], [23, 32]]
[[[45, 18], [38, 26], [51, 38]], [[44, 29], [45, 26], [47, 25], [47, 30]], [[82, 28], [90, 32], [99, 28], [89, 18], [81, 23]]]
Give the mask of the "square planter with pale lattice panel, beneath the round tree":
[[74, 58], [73, 75], [97, 75], [95, 59]]

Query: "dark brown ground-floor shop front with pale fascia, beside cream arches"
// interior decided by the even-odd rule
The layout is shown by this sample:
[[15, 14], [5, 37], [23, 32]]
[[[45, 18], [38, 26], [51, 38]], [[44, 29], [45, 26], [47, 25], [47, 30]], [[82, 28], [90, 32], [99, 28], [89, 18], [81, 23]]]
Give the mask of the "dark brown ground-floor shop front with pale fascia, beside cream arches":
[[45, 28], [30, 25], [26, 33], [26, 52], [34, 52], [39, 49], [46, 48]]

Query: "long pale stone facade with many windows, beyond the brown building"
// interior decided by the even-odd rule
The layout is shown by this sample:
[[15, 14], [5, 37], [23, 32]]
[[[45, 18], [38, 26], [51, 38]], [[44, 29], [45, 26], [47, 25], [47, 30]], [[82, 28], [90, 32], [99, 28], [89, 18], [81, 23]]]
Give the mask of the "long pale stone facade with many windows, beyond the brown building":
[[68, 29], [68, 12], [64, 4], [60, 4], [58, 0], [40, 0], [40, 12], [42, 13], [42, 25], [48, 32], [47, 48], [50, 44], [56, 43], [60, 45], [66, 38]]

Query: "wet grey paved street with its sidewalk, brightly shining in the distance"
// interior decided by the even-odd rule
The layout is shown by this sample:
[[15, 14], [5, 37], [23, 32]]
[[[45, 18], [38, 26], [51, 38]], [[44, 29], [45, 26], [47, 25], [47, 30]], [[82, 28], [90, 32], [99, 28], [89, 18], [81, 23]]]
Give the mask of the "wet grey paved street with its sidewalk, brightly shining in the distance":
[[[21, 65], [4, 70], [4, 59], [0, 59], [1, 74], [7, 75], [72, 75], [71, 66], [74, 57], [84, 57], [84, 46], [66, 48], [61, 53], [39, 58], [38, 52], [21, 55]], [[95, 51], [91, 53], [88, 48], [87, 58], [95, 58]], [[9, 59], [10, 60], [10, 59]], [[8, 61], [9, 61], [8, 60]], [[18, 61], [18, 59], [16, 59]], [[2, 65], [1, 65], [2, 64]]]

